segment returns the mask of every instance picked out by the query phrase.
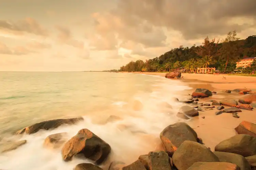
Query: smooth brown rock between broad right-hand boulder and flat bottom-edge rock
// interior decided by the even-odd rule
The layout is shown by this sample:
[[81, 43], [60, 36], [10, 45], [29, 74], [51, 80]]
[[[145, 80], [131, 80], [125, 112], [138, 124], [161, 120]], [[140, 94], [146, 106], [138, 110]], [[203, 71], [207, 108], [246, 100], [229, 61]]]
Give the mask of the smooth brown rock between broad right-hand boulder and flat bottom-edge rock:
[[252, 170], [248, 161], [239, 154], [228, 153], [228, 152], [213, 152], [220, 162], [229, 162], [236, 164], [240, 167], [241, 170]]

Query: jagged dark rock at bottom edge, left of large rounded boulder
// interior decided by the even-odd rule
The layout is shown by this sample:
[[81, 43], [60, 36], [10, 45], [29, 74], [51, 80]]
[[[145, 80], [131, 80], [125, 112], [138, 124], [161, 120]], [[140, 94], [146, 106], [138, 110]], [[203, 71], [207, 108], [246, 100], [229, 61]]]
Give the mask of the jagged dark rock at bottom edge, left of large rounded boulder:
[[150, 152], [147, 155], [141, 155], [139, 160], [147, 170], [171, 170], [170, 157], [164, 151]]

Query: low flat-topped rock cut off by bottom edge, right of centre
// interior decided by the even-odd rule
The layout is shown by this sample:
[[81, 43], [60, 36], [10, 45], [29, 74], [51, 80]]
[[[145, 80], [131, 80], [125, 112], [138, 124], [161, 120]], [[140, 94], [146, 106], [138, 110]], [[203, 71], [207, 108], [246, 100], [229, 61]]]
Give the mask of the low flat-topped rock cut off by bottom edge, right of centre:
[[240, 170], [236, 164], [227, 162], [196, 162], [187, 170]]

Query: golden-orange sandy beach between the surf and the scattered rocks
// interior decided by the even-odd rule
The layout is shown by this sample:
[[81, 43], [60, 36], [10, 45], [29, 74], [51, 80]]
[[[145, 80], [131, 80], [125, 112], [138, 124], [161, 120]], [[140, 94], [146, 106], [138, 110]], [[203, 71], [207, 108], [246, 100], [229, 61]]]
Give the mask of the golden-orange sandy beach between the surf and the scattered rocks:
[[[166, 73], [156, 72], [134, 72], [136, 74], [150, 74], [165, 76]], [[184, 97], [191, 97], [190, 95], [196, 88], [206, 88], [211, 91], [216, 91], [217, 94], [204, 99], [199, 99], [199, 103], [212, 103], [210, 100], [220, 101], [223, 99], [237, 100], [244, 95], [239, 95], [237, 92], [226, 93], [226, 90], [233, 90], [237, 88], [249, 88], [252, 91], [256, 91], [256, 77], [247, 77], [239, 75], [214, 75], [214, 74], [189, 74], [183, 73], [183, 79], [170, 81], [183, 81], [193, 89], [183, 92]], [[226, 78], [224, 79], [223, 76]], [[190, 94], [190, 95], [189, 95]], [[248, 95], [248, 94], [247, 94]], [[217, 107], [217, 106], [215, 106]], [[228, 106], [224, 106], [228, 108]], [[198, 137], [202, 138], [206, 147], [210, 147], [214, 151], [215, 146], [234, 135], [236, 135], [236, 128], [242, 121], [248, 121], [256, 124], [256, 108], [253, 111], [247, 111], [242, 109], [238, 115], [240, 118], [232, 117], [232, 113], [223, 113], [221, 115], [215, 115], [216, 108], [213, 110], [205, 109], [204, 112], [199, 112], [199, 116], [193, 117], [191, 120], [186, 121], [191, 128], [193, 128]], [[205, 117], [204, 119], [202, 117]], [[160, 144], [159, 144], [160, 145]], [[159, 149], [160, 147], [158, 147]]]

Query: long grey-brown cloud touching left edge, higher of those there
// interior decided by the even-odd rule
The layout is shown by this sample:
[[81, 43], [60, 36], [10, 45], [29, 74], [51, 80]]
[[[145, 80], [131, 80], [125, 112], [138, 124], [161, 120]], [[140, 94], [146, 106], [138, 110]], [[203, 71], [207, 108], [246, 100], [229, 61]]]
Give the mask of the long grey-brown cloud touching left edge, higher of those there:
[[35, 19], [25, 18], [17, 22], [8, 20], [0, 20], [0, 31], [6, 31], [13, 34], [35, 34], [40, 36], [48, 36], [48, 31], [43, 28]]

